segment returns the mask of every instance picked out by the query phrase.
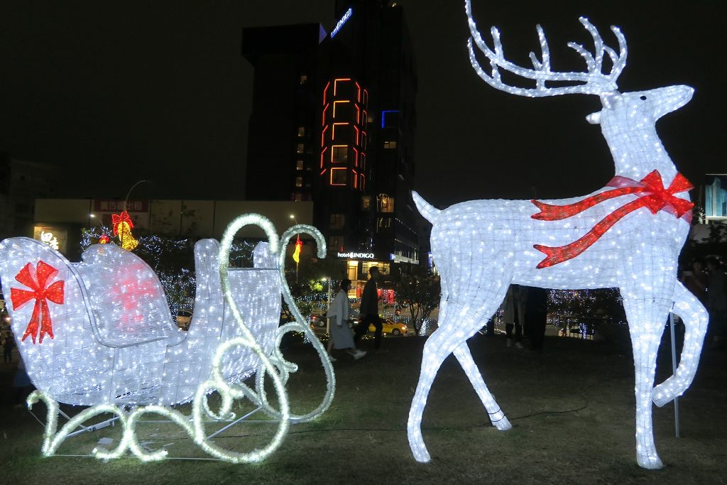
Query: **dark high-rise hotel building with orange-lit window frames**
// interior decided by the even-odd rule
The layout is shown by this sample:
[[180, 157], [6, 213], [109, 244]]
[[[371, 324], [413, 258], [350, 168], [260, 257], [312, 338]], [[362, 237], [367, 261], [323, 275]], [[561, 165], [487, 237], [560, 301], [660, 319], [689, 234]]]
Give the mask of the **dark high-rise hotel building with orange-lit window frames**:
[[244, 30], [255, 68], [246, 197], [312, 198], [329, 257], [356, 280], [419, 262], [417, 78], [401, 7], [337, 0], [336, 15], [324, 36], [319, 25]]

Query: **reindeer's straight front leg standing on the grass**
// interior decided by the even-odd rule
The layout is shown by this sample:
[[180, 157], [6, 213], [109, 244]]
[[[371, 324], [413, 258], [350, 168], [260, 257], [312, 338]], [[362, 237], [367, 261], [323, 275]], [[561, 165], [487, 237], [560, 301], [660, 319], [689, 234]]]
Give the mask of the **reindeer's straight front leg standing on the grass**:
[[[622, 294], [629, 292], [622, 289]], [[656, 372], [656, 351], [664, 332], [671, 302], [651, 298], [624, 298], [634, 354], [636, 391], [636, 460], [643, 468], [662, 468], [656, 453], [651, 417], [651, 390]]]

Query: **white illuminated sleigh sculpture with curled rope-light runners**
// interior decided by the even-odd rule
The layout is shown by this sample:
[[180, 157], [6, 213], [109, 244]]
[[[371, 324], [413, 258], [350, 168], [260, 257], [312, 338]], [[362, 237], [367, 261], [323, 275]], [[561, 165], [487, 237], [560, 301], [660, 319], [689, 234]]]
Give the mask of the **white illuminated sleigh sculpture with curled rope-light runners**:
[[[232, 239], [248, 224], [259, 225], [268, 243], [254, 249], [253, 268], [228, 268]], [[324, 257], [323, 236], [312, 226], [295, 225], [283, 241], [298, 233], [313, 236], [319, 257]], [[112, 420], [124, 425], [124, 438], [113, 452], [95, 450], [97, 457], [118, 457], [129, 448], [144, 460], [160, 459], [166, 452], [146, 453], [134, 435], [133, 423], [142, 414], [155, 413], [177, 422], [215, 457], [256, 461], [279, 445], [289, 422], [324, 412], [334, 392], [332, 366], [294, 305], [284, 278], [284, 257], [285, 245], [270, 221], [259, 215], [238, 217], [221, 245], [212, 239], [198, 241], [195, 311], [189, 331], [182, 332], [172, 324], [156, 274], [131, 252], [97, 244], [84, 252], [84, 262], [72, 264], [40, 241], [0, 242], [0, 277], [11, 296], [13, 331], [38, 389], [28, 403], [43, 399], [49, 408], [44, 454], [53, 454], [67, 436], [78, 433], [76, 428], [87, 429], [82, 423], [90, 417], [112, 413]], [[296, 321], [278, 327], [281, 293]], [[286, 332], [307, 334], [326, 372], [326, 395], [308, 414], [292, 414], [286, 398], [285, 383], [296, 369], [278, 351]], [[252, 374], [257, 374], [254, 389], [243, 383]], [[273, 381], [280, 409], [265, 397], [265, 375]], [[206, 399], [214, 390], [222, 396], [218, 412], [209, 409]], [[230, 413], [233, 400], [242, 397], [257, 406], [255, 411], [278, 421], [276, 435], [265, 449], [247, 454], [217, 449], [211, 436], [205, 436], [204, 420], [244, 419]], [[58, 401], [92, 407], [55, 433]], [[166, 407], [188, 401], [194, 401], [191, 417]]]

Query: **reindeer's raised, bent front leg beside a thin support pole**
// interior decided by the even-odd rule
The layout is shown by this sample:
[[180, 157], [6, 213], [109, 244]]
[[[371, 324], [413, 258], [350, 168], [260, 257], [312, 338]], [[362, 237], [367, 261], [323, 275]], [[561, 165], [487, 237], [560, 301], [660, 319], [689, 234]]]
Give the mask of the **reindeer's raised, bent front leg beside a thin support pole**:
[[682, 318], [686, 333], [684, 347], [676, 374], [657, 385], [653, 391], [654, 404], [664, 406], [681, 396], [694, 379], [699, 356], [702, 354], [704, 334], [707, 333], [707, 310], [681, 283], [674, 288], [674, 313]]

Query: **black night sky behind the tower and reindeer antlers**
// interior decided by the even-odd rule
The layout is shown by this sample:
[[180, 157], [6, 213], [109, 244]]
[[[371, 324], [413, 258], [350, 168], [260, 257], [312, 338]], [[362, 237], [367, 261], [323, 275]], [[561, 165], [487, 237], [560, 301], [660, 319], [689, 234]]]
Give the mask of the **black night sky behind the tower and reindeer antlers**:
[[[415, 188], [434, 204], [467, 199], [578, 196], [605, 185], [613, 162], [595, 96], [531, 99], [499, 92], [467, 57], [464, 1], [402, 0], [417, 56]], [[591, 48], [585, 15], [606, 44], [622, 28], [627, 67], [619, 89], [696, 89], [657, 125], [678, 169], [695, 185], [727, 172], [718, 152], [727, 81], [717, 1], [473, 0], [489, 40], [502, 33], [510, 60], [550, 43], [554, 71], [582, 71], [567, 41]], [[354, 15], [356, 15], [354, 13]], [[65, 167], [69, 195], [240, 199], [244, 191], [252, 67], [241, 56], [248, 26], [335, 24], [333, 1], [0, 2], [0, 151]]]

